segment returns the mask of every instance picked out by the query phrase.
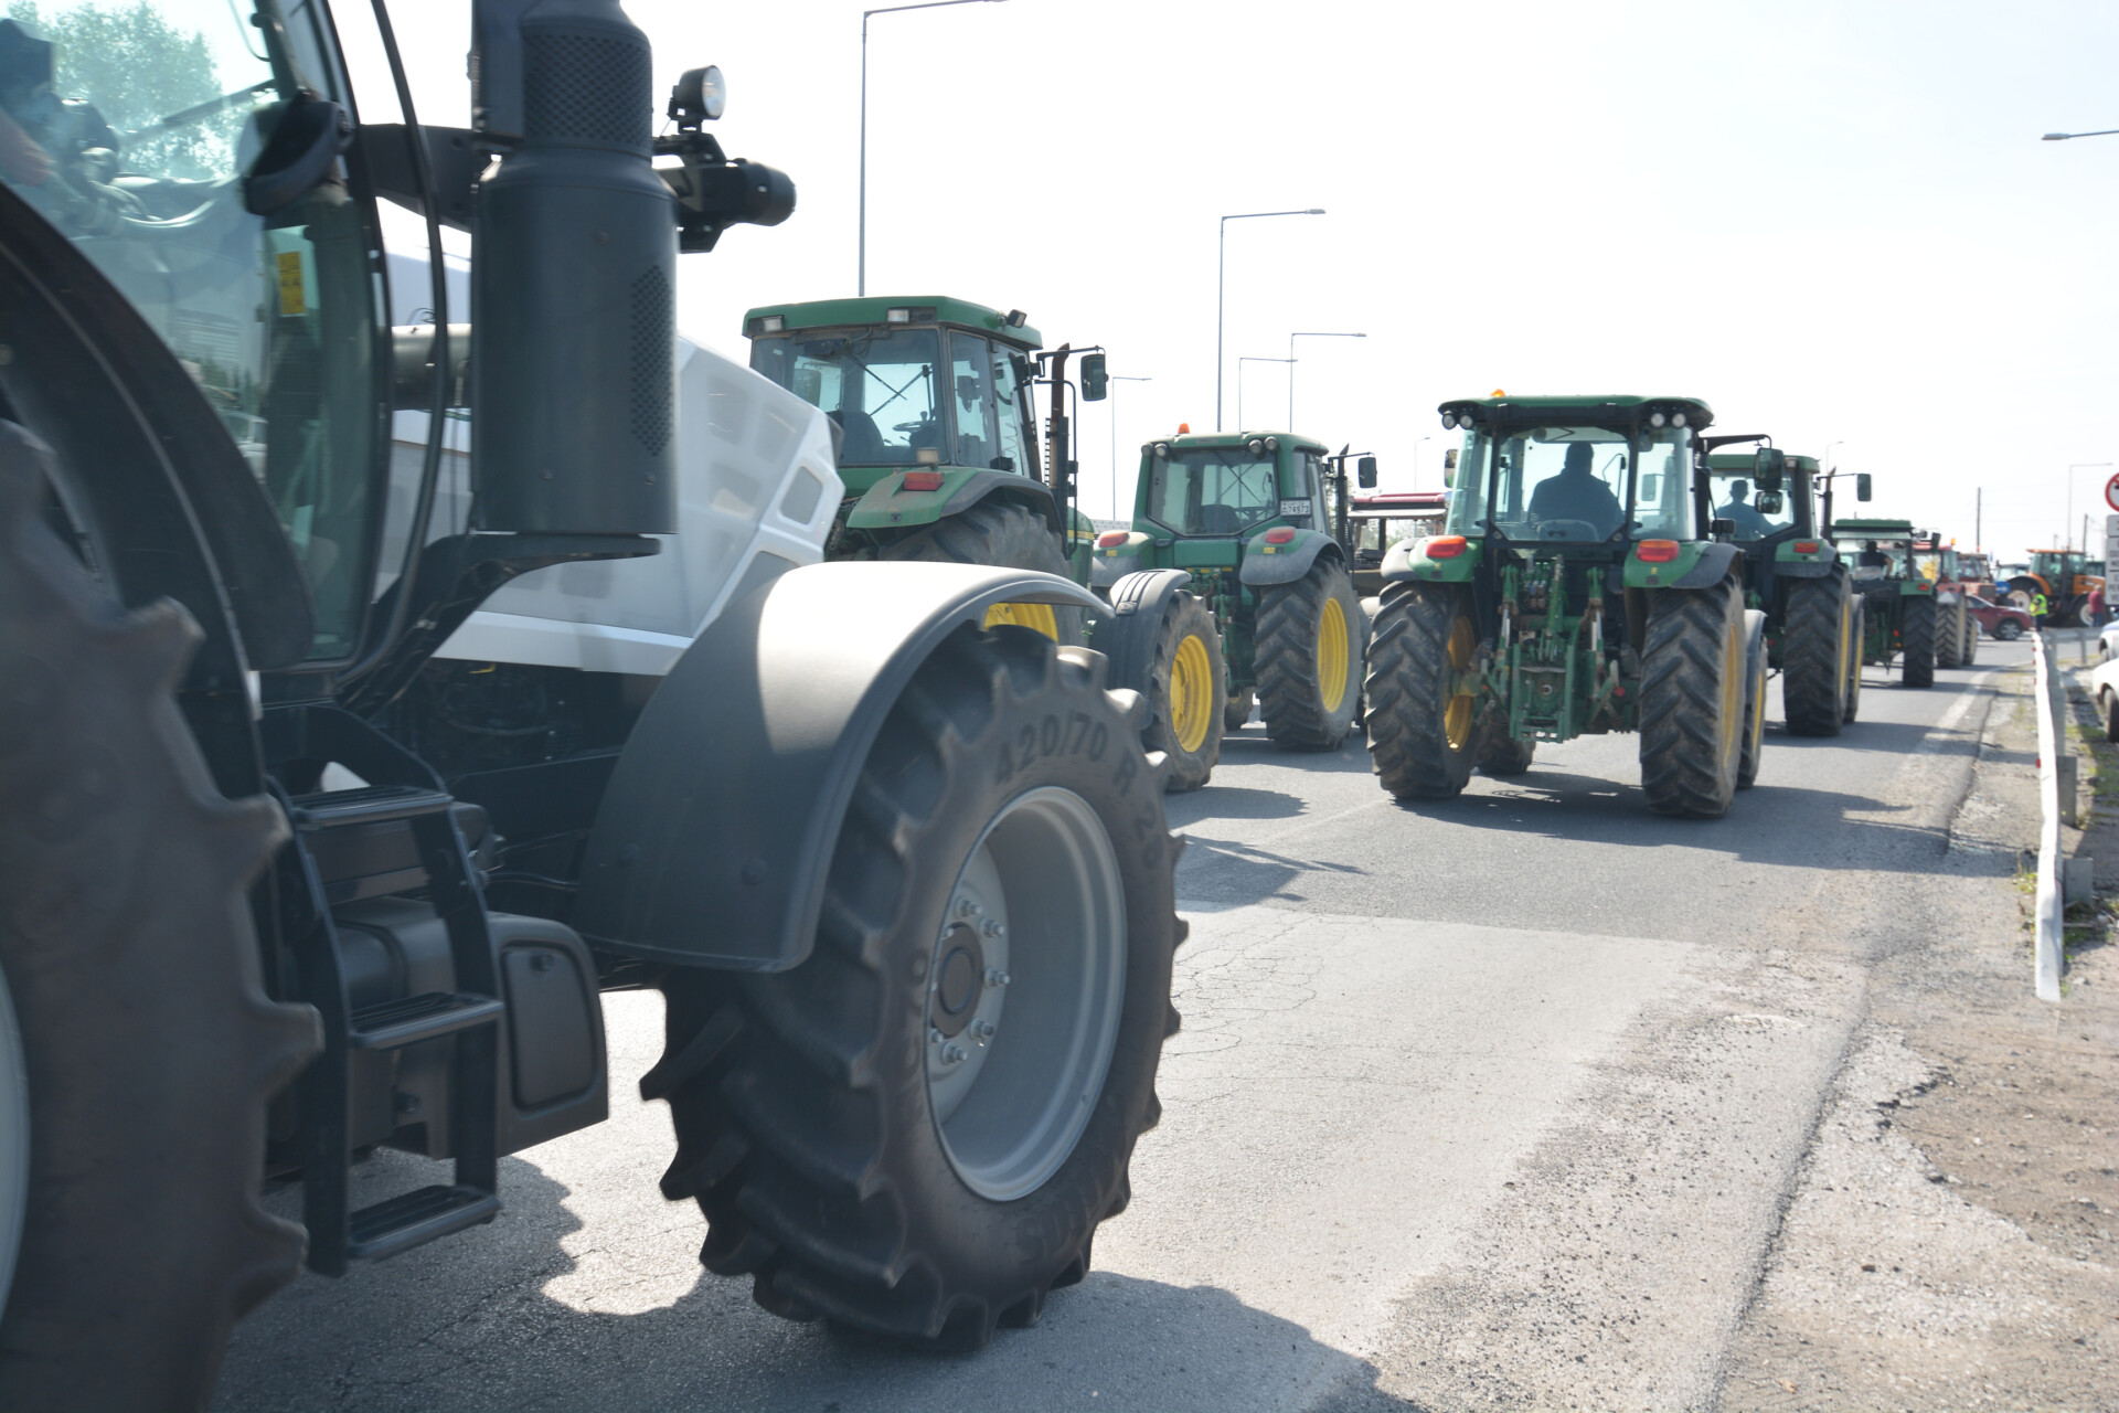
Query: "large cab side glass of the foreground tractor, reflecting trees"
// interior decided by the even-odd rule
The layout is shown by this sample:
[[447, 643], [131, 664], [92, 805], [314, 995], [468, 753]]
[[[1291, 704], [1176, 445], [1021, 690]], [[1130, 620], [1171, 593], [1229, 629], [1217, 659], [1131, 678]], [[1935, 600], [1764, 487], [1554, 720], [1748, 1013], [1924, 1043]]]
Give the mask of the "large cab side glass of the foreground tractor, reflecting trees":
[[352, 108], [335, 53], [322, 6], [278, 0], [15, 0], [0, 19], [0, 180], [220, 413], [307, 572], [318, 659], [354, 650], [373, 589], [377, 239], [337, 176], [250, 199], [244, 178], [301, 93]]

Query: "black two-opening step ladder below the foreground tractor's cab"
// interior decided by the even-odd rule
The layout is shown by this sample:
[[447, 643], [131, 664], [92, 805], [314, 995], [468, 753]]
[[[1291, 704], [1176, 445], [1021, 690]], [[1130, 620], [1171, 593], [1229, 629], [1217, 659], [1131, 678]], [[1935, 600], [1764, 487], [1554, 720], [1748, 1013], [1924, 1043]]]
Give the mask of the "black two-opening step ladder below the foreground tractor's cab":
[[[364, 722], [337, 712], [331, 716], [337, 720], [316, 725], [339, 737], [339, 746], [352, 748], [348, 754], [364, 756], [348, 761], [356, 773], [388, 775], [394, 773], [392, 765], [405, 763], [398, 748], [373, 735]], [[407, 765], [417, 769], [415, 763]], [[453, 803], [445, 790], [426, 784], [360, 786], [284, 801], [297, 833], [309, 837], [337, 828], [409, 824], [426, 871], [428, 898], [449, 932], [458, 985], [456, 991], [426, 991], [354, 1010], [316, 858], [309, 849], [290, 849], [316, 905], [316, 928], [299, 949], [303, 991], [324, 1019], [324, 1053], [303, 1080], [303, 1222], [309, 1229], [309, 1269], [322, 1275], [343, 1275], [352, 1260], [396, 1256], [489, 1222], [500, 1212], [498, 1047], [506, 1004], [500, 1000], [485, 902], [451, 813]], [[445, 1036], [456, 1042], [449, 1123], [456, 1180], [354, 1210], [348, 1116], [352, 1053], [398, 1051]]]

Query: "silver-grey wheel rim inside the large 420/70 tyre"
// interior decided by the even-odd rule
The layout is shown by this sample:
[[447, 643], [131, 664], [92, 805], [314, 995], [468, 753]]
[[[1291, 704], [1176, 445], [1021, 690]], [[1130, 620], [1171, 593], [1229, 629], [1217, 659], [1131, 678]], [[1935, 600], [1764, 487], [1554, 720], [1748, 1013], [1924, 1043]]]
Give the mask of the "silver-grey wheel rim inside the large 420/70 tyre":
[[1060, 1171], [1104, 1091], [1123, 1004], [1110, 835], [1072, 790], [1026, 790], [973, 845], [928, 962], [928, 1108], [964, 1186], [1015, 1201]]

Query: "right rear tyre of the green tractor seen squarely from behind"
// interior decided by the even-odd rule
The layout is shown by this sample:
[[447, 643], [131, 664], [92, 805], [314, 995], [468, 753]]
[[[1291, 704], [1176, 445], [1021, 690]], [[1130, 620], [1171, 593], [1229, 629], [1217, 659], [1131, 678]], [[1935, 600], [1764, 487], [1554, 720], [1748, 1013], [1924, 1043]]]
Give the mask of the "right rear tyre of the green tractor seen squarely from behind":
[[1640, 684], [1640, 790], [1655, 813], [1729, 813], [1744, 752], [1744, 593], [1733, 580], [1655, 597]]

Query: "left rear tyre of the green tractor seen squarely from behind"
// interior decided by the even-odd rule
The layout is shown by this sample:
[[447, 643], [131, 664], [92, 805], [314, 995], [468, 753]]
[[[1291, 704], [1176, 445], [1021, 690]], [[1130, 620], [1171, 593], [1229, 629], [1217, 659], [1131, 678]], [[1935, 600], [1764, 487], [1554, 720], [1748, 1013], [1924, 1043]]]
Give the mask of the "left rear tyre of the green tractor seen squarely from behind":
[[1369, 758], [1399, 799], [1447, 799], [1479, 758], [1479, 648], [1471, 595], [1447, 585], [1384, 587], [1369, 644]]

